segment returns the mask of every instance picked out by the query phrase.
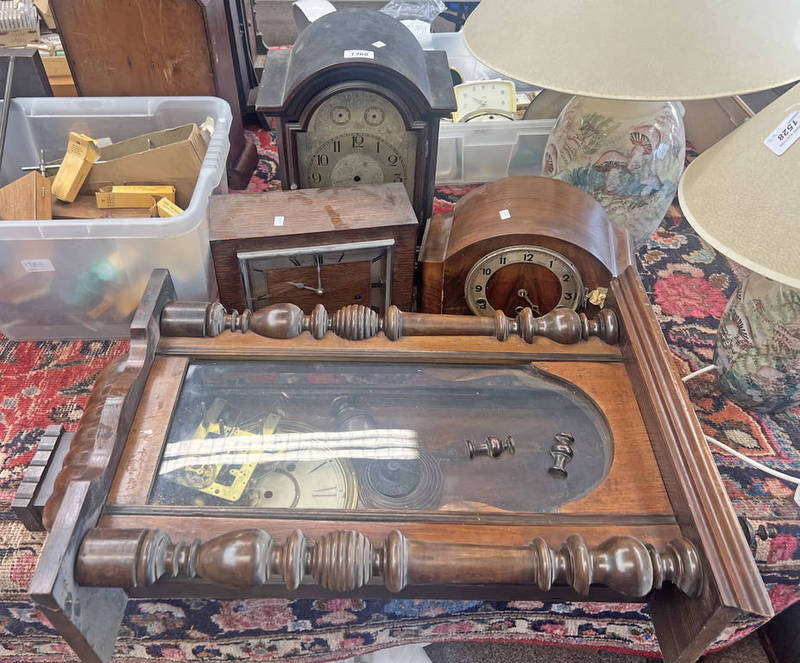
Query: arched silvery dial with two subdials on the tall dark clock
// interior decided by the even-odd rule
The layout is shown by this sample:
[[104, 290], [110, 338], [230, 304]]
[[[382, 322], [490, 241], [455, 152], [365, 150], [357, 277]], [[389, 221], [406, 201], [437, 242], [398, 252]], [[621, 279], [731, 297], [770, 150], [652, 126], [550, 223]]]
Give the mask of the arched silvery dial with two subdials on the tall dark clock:
[[367, 90], [323, 101], [297, 135], [303, 188], [402, 182], [413, 200], [417, 137], [386, 98]]

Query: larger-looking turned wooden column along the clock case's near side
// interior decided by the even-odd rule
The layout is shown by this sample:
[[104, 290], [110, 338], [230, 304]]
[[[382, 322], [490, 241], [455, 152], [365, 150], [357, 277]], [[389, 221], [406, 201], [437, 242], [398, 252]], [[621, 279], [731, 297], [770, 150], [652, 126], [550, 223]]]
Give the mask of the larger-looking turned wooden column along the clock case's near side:
[[410, 585], [513, 584], [545, 592], [566, 585], [586, 595], [603, 585], [632, 597], [665, 582], [695, 597], [703, 581], [697, 550], [683, 538], [657, 551], [632, 536], [589, 547], [573, 534], [552, 548], [543, 538], [523, 546], [414, 541], [397, 530], [373, 547], [352, 530], [316, 540], [295, 530], [279, 543], [264, 530], [246, 529], [204, 543], [173, 543], [160, 530], [95, 529], [81, 545], [75, 572], [81, 585], [123, 589], [182, 576], [236, 589], [281, 578], [296, 590], [308, 576], [327, 590], [350, 592], [374, 577], [391, 592]]

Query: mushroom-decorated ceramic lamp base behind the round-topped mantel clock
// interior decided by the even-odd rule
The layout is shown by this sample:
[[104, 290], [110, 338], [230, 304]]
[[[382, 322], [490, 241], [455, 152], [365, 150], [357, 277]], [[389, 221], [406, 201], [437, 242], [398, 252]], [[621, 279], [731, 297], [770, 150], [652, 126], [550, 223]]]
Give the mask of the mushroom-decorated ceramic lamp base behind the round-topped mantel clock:
[[592, 194], [639, 247], [675, 198], [685, 154], [679, 104], [573, 97], [550, 132], [542, 174]]

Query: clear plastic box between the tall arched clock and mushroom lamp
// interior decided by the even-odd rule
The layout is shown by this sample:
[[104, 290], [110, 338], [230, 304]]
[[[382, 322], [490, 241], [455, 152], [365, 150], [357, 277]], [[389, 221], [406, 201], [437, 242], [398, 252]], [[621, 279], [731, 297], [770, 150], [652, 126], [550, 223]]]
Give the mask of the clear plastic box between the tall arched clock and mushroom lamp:
[[552, 120], [489, 120], [439, 125], [436, 184], [539, 175]]

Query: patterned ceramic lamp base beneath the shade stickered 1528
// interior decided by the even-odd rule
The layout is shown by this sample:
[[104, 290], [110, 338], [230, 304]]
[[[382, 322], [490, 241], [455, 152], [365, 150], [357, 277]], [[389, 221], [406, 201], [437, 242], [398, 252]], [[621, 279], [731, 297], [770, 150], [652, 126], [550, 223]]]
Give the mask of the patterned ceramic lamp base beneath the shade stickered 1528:
[[743, 407], [800, 404], [800, 290], [747, 276], [720, 320], [714, 363], [723, 392]]

